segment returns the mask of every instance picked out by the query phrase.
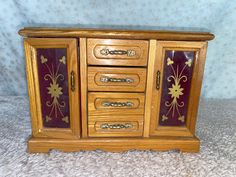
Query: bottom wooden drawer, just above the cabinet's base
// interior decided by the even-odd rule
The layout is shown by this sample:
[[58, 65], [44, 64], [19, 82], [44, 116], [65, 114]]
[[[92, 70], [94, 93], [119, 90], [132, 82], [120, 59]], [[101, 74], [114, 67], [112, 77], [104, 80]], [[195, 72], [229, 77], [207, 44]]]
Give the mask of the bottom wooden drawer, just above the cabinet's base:
[[143, 116], [89, 116], [90, 137], [142, 136]]

